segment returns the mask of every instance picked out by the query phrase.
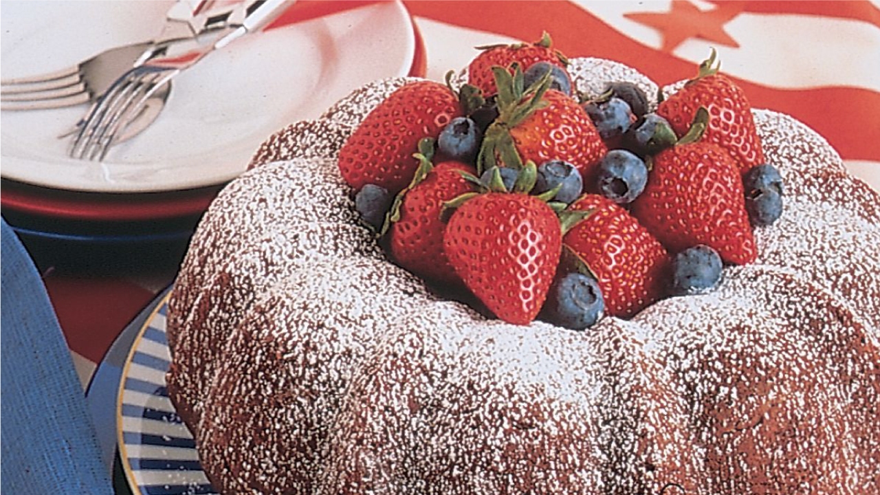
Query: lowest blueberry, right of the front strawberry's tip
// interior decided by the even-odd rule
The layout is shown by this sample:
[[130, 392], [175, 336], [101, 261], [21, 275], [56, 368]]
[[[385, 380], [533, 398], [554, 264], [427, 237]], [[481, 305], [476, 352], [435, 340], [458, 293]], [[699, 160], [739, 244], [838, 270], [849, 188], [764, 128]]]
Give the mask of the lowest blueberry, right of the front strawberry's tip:
[[574, 272], [554, 281], [544, 317], [554, 325], [583, 330], [594, 325], [604, 310], [605, 299], [596, 279]]

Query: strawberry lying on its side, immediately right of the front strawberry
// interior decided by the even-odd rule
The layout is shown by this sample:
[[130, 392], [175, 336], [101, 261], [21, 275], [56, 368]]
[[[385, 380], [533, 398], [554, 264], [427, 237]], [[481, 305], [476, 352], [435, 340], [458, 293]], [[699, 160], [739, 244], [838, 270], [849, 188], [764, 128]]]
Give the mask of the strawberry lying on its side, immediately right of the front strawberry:
[[562, 243], [598, 280], [608, 314], [629, 318], [664, 297], [670, 256], [638, 220], [594, 194], [581, 196], [567, 211], [592, 211]]

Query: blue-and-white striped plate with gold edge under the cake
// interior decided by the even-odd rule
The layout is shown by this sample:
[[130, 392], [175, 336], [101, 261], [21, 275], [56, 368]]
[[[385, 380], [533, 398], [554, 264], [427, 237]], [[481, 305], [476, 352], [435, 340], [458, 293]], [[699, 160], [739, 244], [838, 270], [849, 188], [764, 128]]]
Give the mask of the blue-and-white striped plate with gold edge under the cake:
[[116, 410], [122, 467], [135, 495], [216, 493], [165, 388], [167, 307], [168, 295], [147, 318], [122, 369]]

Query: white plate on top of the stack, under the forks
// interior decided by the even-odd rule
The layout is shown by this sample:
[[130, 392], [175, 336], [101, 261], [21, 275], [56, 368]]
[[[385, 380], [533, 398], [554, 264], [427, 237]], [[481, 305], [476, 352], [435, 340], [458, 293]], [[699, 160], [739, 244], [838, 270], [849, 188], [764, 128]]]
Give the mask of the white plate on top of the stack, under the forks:
[[[3, 3], [3, 78], [60, 70], [155, 35], [169, 2]], [[407, 75], [415, 54], [400, 2], [370, 4], [258, 33], [175, 78], [162, 114], [103, 163], [70, 159], [65, 130], [86, 105], [0, 112], [2, 174], [50, 188], [198, 188], [244, 171], [269, 135], [319, 116], [351, 90]]]

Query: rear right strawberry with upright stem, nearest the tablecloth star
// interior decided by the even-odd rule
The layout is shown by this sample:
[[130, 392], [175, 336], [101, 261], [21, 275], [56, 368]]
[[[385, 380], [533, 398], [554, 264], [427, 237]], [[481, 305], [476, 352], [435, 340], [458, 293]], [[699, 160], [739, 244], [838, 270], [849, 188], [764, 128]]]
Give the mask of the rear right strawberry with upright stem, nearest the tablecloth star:
[[697, 77], [662, 101], [656, 114], [669, 121], [681, 137], [690, 129], [697, 109], [706, 107], [709, 122], [704, 138], [730, 153], [740, 174], [745, 174], [752, 166], [765, 162], [764, 151], [749, 100], [732, 79], [718, 72], [719, 65], [715, 65], [713, 49], [700, 64]]

